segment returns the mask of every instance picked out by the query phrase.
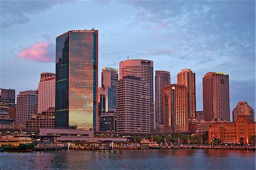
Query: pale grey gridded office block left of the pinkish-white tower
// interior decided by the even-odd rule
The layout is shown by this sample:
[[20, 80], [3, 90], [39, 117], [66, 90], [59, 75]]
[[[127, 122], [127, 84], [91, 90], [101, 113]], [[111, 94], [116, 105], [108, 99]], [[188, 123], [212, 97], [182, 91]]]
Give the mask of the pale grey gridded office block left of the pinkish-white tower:
[[38, 91], [28, 90], [17, 95], [16, 124], [24, 124], [38, 109]]

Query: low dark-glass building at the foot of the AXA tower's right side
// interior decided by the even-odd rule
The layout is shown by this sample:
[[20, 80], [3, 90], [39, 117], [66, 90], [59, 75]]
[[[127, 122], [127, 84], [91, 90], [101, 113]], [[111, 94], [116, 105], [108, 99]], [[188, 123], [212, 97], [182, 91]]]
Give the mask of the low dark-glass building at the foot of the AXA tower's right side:
[[117, 113], [102, 113], [100, 115], [100, 131], [117, 131]]

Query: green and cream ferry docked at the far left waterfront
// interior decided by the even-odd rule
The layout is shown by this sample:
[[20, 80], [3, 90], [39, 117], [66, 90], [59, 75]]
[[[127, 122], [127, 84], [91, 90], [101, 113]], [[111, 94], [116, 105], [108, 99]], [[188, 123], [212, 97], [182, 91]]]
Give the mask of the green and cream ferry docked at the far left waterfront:
[[6, 135], [0, 139], [0, 152], [28, 152], [33, 148], [30, 135]]

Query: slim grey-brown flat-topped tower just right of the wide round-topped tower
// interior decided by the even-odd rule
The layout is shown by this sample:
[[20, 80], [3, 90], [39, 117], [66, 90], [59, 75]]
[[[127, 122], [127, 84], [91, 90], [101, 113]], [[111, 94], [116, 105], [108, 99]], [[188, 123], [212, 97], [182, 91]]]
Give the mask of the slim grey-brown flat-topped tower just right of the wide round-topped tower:
[[155, 118], [156, 126], [163, 125], [163, 89], [171, 84], [170, 72], [155, 71]]

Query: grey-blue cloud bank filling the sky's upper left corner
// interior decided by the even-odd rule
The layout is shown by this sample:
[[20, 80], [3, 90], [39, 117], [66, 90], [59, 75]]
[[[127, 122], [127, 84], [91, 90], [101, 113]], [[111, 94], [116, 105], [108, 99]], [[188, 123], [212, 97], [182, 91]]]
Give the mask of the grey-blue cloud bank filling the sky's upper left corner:
[[10, 27], [13, 24], [26, 24], [29, 16], [42, 13], [59, 3], [69, 1], [1, 1], [1, 28]]

